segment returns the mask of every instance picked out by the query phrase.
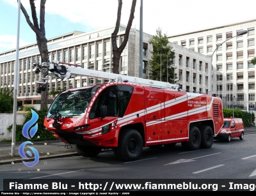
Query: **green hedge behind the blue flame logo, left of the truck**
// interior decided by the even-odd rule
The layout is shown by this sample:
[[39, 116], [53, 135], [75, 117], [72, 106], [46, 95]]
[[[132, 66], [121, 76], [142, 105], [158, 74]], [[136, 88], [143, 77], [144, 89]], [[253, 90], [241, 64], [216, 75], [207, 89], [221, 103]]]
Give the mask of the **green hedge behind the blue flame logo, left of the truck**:
[[[36, 112], [36, 114], [38, 114], [38, 120], [36, 121], [36, 123], [38, 123], [38, 128], [37, 128], [36, 134], [30, 140], [31, 141], [55, 140], [56, 137], [53, 136], [53, 133], [45, 130], [45, 126], [44, 126], [44, 117], [47, 112], [47, 108], [45, 108], [44, 110], [34, 110], [34, 111]], [[26, 114], [24, 123], [16, 125], [16, 141], [29, 140], [22, 135], [22, 128], [23, 128], [24, 124], [27, 123], [31, 119], [31, 117], [32, 117], [32, 112], [30, 110], [28, 112], [28, 114]], [[33, 124], [33, 126], [35, 126], [35, 124]], [[7, 129], [10, 132], [12, 132], [12, 125], [10, 125]]]

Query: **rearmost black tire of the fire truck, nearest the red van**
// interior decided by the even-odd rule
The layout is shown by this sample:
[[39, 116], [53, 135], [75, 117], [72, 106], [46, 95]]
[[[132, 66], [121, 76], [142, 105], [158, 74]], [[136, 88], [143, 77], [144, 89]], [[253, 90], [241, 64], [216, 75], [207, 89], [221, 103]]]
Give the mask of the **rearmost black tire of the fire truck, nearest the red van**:
[[213, 132], [211, 126], [200, 126], [201, 132], [201, 146], [202, 148], [210, 148], [213, 144]]

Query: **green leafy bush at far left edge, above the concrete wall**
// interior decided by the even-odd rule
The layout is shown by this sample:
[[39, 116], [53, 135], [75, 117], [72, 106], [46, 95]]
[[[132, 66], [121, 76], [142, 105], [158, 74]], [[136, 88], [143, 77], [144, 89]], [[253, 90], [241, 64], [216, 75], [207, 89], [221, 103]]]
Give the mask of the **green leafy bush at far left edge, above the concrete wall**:
[[13, 111], [13, 89], [5, 84], [0, 88], [0, 113]]

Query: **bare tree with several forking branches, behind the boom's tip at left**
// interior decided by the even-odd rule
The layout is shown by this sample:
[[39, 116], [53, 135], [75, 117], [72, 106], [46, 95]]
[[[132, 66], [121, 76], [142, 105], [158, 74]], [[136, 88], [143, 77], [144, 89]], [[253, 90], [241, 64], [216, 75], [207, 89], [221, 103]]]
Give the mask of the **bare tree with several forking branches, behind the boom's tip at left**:
[[[47, 49], [47, 39], [45, 38], [45, 3], [46, 3], [46, 0], [41, 0], [40, 2], [40, 25], [38, 24], [38, 19], [36, 16], [36, 7], [35, 7], [34, 0], [29, 0], [33, 24], [29, 19], [29, 15], [26, 9], [22, 5], [22, 3], [20, 3], [20, 10], [23, 12], [29, 27], [31, 27], [31, 29], [36, 34], [36, 42], [41, 55], [42, 62], [47, 62], [49, 57], [48, 49]], [[46, 75], [47, 75], [47, 72], [42, 73], [42, 77], [45, 77]], [[47, 104], [48, 104], [47, 102], [48, 102], [48, 88], [46, 87], [45, 91], [42, 91], [42, 94], [41, 94], [41, 105], [40, 105], [41, 110], [47, 107]]]

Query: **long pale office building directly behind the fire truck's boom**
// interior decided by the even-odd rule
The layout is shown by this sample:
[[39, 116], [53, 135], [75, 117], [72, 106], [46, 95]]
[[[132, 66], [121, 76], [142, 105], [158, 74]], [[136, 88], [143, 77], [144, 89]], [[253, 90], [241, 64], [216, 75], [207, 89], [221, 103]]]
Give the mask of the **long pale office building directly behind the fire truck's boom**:
[[[79, 64], [84, 69], [99, 70], [101, 72], [112, 72], [112, 44], [111, 33], [115, 26], [100, 29], [90, 33], [74, 31], [55, 38], [48, 39], [49, 60], [58, 60], [64, 63]], [[125, 26], [120, 26], [117, 43], [120, 45], [124, 39]], [[152, 35], [143, 33], [143, 78], [148, 79], [148, 61], [152, 45], [149, 40]], [[207, 93], [209, 89], [209, 69], [205, 71], [205, 64], [210, 64], [211, 58], [198, 54], [198, 52], [180, 47], [170, 43], [175, 50], [175, 73], [179, 75], [179, 82], [183, 91]], [[198, 72], [191, 72], [193, 66], [186, 66], [187, 58], [189, 62], [196, 60], [197, 64], [202, 63], [201, 71], [198, 66]], [[14, 87], [14, 69], [15, 69], [16, 50], [8, 50], [0, 54], [0, 87], [6, 84], [8, 87]], [[41, 75], [36, 75], [33, 62], [42, 63], [40, 53], [36, 43], [20, 47], [19, 65], [18, 65], [18, 105], [34, 105], [40, 109], [40, 94], [36, 93], [37, 80], [41, 80]], [[122, 52], [120, 59], [120, 74], [139, 77], [140, 70], [140, 31], [132, 29], [129, 34], [129, 41]], [[189, 75], [186, 75], [189, 70]], [[208, 78], [208, 79], [207, 79]], [[107, 80], [93, 79], [90, 77], [74, 77], [65, 81], [58, 81], [54, 77], [49, 80], [48, 89], [67, 89], [70, 87], [82, 87], [90, 84], [101, 84]], [[172, 83], [172, 80], [168, 81]], [[207, 84], [208, 83], [208, 84]], [[49, 96], [49, 104], [53, 97]]]

